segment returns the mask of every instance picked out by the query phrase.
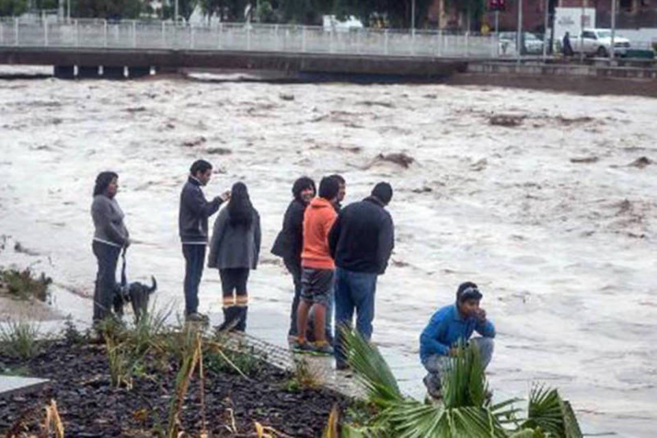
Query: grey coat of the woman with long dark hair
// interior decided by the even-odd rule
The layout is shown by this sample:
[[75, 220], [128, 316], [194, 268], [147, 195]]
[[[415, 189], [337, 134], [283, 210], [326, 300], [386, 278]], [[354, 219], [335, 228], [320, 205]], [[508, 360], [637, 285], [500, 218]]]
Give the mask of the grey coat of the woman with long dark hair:
[[228, 209], [222, 209], [214, 221], [208, 268], [255, 269], [260, 254], [260, 239], [260, 216], [256, 209], [253, 209], [253, 222], [248, 229], [232, 227]]

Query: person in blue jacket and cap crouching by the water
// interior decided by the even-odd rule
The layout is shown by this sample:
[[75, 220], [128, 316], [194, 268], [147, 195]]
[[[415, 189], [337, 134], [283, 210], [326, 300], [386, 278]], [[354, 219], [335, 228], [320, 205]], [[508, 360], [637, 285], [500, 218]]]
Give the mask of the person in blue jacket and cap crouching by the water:
[[[456, 303], [434, 313], [420, 335], [420, 359], [428, 371], [424, 385], [433, 398], [441, 397], [441, 373], [448, 365], [446, 359], [456, 354], [459, 341], [477, 346], [484, 369], [491, 361], [495, 326], [486, 319], [486, 311], [479, 307], [481, 298], [475, 283], [461, 283], [456, 290]], [[469, 339], [474, 331], [482, 337]]]

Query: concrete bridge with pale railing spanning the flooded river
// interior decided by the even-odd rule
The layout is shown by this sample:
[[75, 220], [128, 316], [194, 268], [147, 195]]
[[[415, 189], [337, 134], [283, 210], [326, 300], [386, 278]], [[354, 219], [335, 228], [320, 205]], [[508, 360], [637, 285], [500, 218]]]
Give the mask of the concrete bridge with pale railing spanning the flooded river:
[[[56, 66], [55, 74], [143, 74], [151, 68], [235, 68], [434, 79], [468, 60], [498, 57], [495, 36], [440, 31], [104, 20], [0, 21], [0, 64]], [[102, 68], [99, 68], [102, 67]], [[95, 73], [94, 73], [95, 72]]]

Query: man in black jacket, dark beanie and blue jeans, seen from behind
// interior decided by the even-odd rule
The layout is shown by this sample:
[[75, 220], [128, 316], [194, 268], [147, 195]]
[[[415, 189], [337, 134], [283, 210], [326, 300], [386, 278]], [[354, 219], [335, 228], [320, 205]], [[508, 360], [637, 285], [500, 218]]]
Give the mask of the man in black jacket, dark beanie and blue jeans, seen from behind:
[[394, 224], [385, 210], [392, 198], [388, 183], [378, 183], [372, 195], [342, 209], [329, 233], [331, 257], [335, 260], [335, 363], [346, 368], [339, 336], [340, 326], [351, 326], [356, 311], [356, 329], [372, 337], [376, 277], [385, 272], [394, 247]]

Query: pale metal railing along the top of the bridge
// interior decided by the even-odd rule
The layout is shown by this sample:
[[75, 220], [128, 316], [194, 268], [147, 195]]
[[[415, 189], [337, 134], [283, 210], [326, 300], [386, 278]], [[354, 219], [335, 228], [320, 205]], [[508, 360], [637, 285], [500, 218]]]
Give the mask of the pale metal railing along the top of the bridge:
[[344, 53], [436, 57], [497, 57], [494, 35], [442, 31], [357, 29], [319, 26], [215, 23], [176, 25], [167, 21], [77, 19], [0, 20], [0, 46], [108, 49], [186, 49]]

